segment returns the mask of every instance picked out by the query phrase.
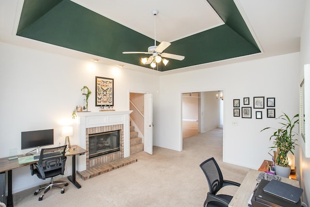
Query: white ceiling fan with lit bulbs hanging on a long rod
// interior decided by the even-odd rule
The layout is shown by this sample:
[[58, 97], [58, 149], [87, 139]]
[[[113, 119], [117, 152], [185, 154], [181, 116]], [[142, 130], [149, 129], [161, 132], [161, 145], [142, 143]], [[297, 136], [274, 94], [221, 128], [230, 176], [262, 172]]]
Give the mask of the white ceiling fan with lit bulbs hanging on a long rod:
[[156, 63], [160, 63], [161, 61], [163, 62], [164, 65], [166, 65], [169, 62], [169, 60], [164, 58], [171, 58], [179, 61], [184, 60], [185, 57], [182, 55], [175, 55], [163, 52], [166, 48], [168, 48], [171, 45], [171, 43], [161, 42], [158, 46], [156, 46], [156, 15], [158, 14], [158, 10], [152, 10], [152, 14], [155, 17], [154, 46], [150, 46], [147, 49], [147, 52], [123, 52], [123, 54], [152, 54], [148, 58], [141, 58], [141, 62], [143, 64], [151, 64], [151, 67], [156, 67]]

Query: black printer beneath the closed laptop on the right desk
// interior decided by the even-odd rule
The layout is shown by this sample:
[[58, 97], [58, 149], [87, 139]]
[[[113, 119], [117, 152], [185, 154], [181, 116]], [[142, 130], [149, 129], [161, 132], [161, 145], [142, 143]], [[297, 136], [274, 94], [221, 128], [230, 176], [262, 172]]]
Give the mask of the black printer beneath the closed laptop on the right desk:
[[262, 179], [251, 199], [252, 207], [301, 207], [301, 201], [294, 203], [287, 199], [263, 191], [270, 181]]

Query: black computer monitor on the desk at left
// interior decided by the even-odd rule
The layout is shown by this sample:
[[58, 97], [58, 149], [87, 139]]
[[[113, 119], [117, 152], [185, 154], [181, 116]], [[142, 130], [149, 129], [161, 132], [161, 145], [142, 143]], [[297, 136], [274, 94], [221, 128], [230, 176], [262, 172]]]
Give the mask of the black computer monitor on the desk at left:
[[54, 129], [21, 132], [21, 149], [39, 147], [54, 144]]

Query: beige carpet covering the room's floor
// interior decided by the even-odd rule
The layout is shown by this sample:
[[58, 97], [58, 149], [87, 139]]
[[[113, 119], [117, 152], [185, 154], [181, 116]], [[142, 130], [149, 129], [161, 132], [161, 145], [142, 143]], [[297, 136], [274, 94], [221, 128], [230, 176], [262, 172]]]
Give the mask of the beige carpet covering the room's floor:
[[[65, 193], [47, 192], [42, 201], [33, 189], [14, 194], [15, 207], [202, 207], [208, 184], [199, 165], [215, 157], [224, 179], [242, 182], [247, 168], [222, 162], [222, 130], [214, 129], [183, 140], [183, 151], [154, 147], [139, 152], [138, 162], [83, 181]], [[232, 194], [236, 187], [228, 189]]]

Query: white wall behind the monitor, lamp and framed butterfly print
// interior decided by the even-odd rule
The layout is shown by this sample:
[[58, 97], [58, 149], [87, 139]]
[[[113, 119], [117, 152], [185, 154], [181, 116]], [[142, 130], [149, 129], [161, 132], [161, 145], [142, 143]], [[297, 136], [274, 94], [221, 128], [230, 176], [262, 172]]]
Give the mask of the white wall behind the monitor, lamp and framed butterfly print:
[[[129, 110], [129, 91], [156, 93], [157, 78], [126, 68], [118, 68], [78, 60], [29, 48], [0, 43], [0, 157], [10, 156], [10, 150], [20, 149], [21, 131], [54, 128], [54, 144], [64, 144], [63, 125], [74, 125], [71, 118], [76, 105], [82, 105], [80, 89], [86, 85], [92, 91], [89, 111], [95, 107], [95, 76], [114, 79], [114, 108]], [[156, 104], [155, 104], [156, 106]], [[70, 137], [77, 143], [77, 128]], [[71, 175], [71, 159], [67, 160], [67, 175]], [[30, 175], [29, 166], [13, 170], [13, 192], [42, 183]]]

